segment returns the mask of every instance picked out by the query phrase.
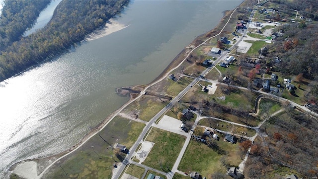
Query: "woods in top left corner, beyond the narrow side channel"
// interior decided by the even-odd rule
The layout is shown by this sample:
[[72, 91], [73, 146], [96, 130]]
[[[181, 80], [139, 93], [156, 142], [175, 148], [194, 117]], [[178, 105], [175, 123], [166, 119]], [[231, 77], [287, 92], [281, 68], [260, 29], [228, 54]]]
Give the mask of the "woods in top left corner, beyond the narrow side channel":
[[51, 0], [5, 0], [0, 16], [1, 49], [19, 40]]

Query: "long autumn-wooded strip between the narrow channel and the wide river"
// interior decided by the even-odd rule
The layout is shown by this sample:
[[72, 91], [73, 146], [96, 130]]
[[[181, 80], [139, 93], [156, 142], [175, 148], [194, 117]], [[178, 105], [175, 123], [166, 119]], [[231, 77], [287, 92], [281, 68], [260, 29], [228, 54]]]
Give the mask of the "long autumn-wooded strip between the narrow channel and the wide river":
[[48, 57], [65, 51], [101, 27], [129, 0], [63, 0], [43, 29], [21, 37], [1, 51], [3, 81]]

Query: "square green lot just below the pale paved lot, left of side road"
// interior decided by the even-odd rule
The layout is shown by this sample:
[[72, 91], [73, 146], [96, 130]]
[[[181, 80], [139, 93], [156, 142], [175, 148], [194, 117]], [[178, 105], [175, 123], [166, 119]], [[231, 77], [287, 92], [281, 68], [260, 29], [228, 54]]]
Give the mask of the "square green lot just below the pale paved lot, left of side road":
[[[152, 128], [146, 140], [154, 142], [155, 145], [143, 164], [167, 172], [166, 166], [170, 170], [172, 169], [184, 144], [185, 137], [158, 128]], [[160, 168], [160, 163], [163, 170]]]

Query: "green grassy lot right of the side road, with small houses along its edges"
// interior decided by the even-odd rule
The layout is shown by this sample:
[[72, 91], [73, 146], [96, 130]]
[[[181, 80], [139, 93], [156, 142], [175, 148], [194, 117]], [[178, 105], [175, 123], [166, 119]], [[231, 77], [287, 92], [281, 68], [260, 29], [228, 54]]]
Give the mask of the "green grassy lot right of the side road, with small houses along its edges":
[[215, 172], [226, 173], [227, 168], [220, 162], [220, 158], [227, 156], [231, 166], [239, 166], [241, 162], [239, 155], [237, 155], [238, 144], [231, 144], [223, 141], [223, 136], [220, 140], [216, 141], [219, 149], [211, 149], [202, 142], [191, 140], [185, 154], [178, 167], [179, 171], [190, 172], [196, 171], [206, 177], [211, 178]]

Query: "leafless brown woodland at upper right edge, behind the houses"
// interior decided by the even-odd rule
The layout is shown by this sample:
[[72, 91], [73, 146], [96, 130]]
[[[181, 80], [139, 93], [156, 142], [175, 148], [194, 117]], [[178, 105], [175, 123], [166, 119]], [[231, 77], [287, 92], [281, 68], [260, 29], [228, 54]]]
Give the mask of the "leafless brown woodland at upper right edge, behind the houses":
[[275, 64], [284, 74], [304, 74], [305, 78], [313, 79], [318, 75], [318, 24], [301, 27], [291, 23], [280, 27], [282, 37], [269, 47], [270, 56], [279, 56], [282, 63]]

